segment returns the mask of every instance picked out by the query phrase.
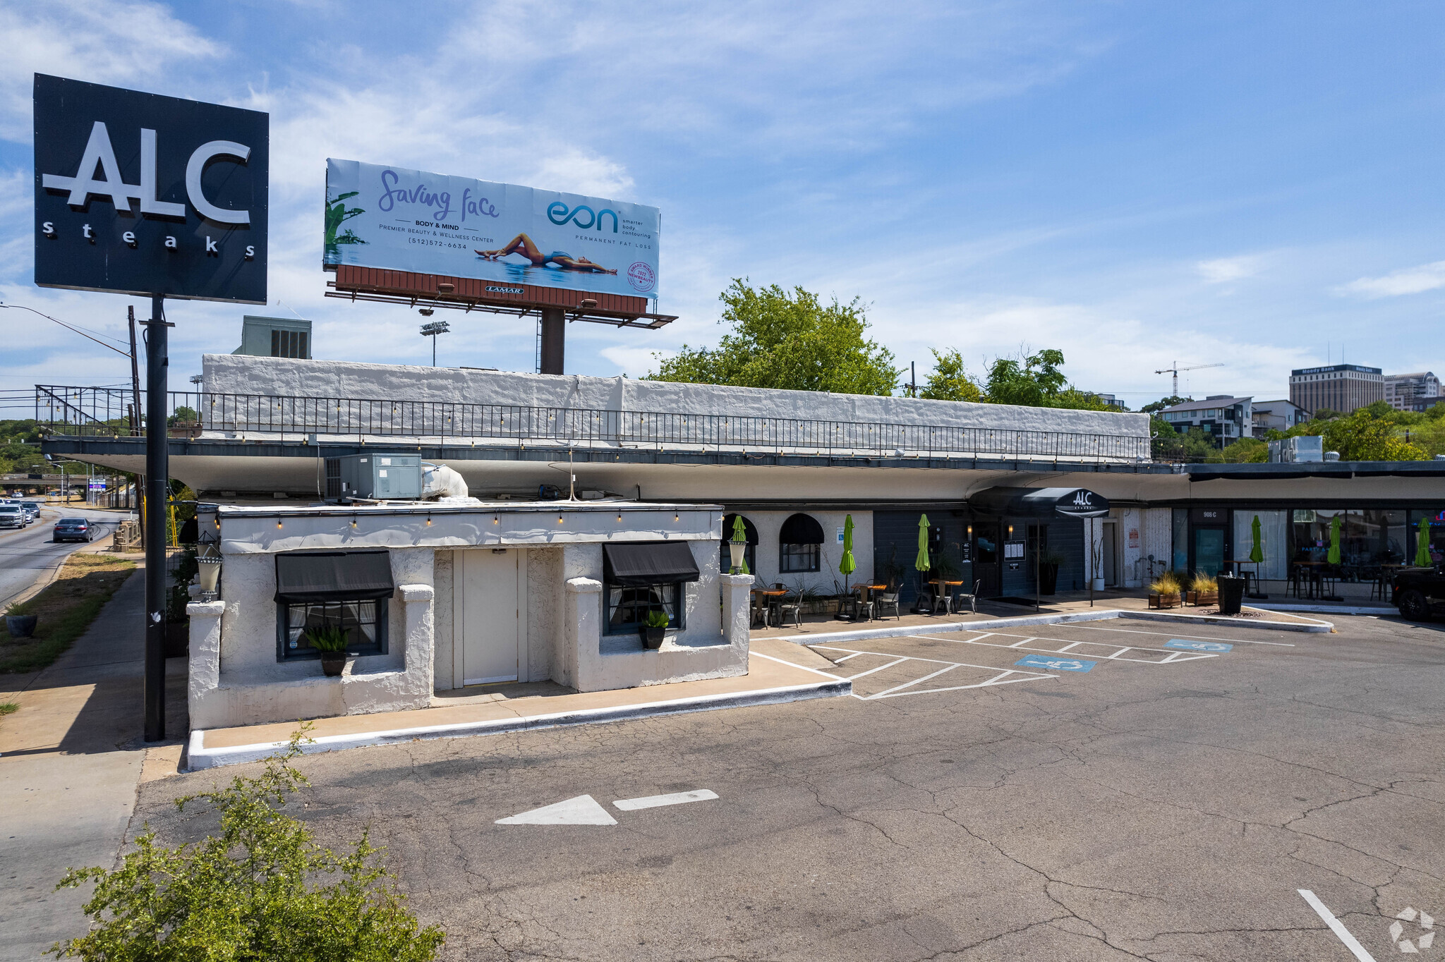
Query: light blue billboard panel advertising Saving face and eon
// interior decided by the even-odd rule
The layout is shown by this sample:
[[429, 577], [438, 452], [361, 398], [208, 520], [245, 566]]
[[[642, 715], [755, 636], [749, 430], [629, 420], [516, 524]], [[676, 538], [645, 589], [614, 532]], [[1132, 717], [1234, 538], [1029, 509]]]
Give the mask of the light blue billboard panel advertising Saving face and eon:
[[[322, 261], [657, 296], [662, 212], [579, 194], [327, 160]], [[490, 290], [490, 286], [488, 286]]]

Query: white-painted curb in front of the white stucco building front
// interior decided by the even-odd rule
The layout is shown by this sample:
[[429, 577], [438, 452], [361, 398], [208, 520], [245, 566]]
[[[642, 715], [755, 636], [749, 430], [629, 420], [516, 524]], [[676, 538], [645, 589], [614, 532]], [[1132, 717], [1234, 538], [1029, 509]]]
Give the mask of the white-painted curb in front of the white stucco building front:
[[[303, 754], [319, 754], [325, 751], [341, 751], [344, 748], [361, 748], [364, 745], [387, 745], [402, 741], [418, 741], [432, 738], [467, 738], [471, 735], [500, 735], [514, 731], [532, 731], [538, 728], [561, 728], [566, 725], [594, 725], [600, 722], [631, 721], [637, 718], [656, 718], [660, 715], [682, 715], [686, 712], [707, 712], [721, 708], [747, 708], [751, 705], [782, 705], [785, 702], [801, 702], [811, 698], [834, 698], [853, 693], [853, 682], [815, 682], [812, 685], [788, 685], [783, 688], [763, 688], [754, 692], [731, 692], [727, 695], [699, 695], [695, 698], [678, 698], [666, 702], [647, 702], [643, 705], [618, 705], [616, 708], [584, 708], [572, 712], [552, 712], [548, 715], [532, 715], [529, 718], [497, 718], [493, 721], [455, 722], [449, 725], [420, 725], [416, 728], [396, 728], [389, 731], [355, 732], [351, 735], [322, 735], [301, 747]], [[254, 745], [231, 745], [228, 748], [207, 748], [205, 731], [191, 732], [191, 742], [186, 751], [186, 771], [202, 768], [218, 768], [246, 761], [260, 761], [277, 751], [285, 750], [285, 741], [257, 742]]]

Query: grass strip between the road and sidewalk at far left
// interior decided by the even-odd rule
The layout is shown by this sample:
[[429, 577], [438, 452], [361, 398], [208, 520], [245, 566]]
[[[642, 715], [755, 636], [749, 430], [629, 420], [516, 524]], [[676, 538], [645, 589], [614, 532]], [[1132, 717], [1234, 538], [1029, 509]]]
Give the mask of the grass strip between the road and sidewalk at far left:
[[55, 662], [134, 569], [136, 562], [108, 553], [71, 555], [59, 578], [25, 604], [38, 615], [33, 638], [12, 638], [0, 621], [0, 675], [38, 672]]

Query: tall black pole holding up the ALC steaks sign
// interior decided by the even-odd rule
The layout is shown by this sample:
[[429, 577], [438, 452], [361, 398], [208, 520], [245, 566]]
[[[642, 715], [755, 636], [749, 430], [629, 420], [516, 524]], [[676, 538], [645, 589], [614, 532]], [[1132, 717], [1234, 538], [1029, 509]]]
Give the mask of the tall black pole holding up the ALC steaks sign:
[[146, 675], [144, 738], [166, 737], [166, 501], [169, 493], [166, 400], [171, 358], [165, 296], [150, 295], [146, 325]]

